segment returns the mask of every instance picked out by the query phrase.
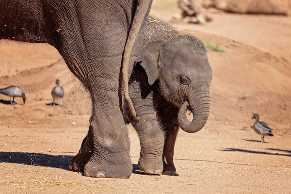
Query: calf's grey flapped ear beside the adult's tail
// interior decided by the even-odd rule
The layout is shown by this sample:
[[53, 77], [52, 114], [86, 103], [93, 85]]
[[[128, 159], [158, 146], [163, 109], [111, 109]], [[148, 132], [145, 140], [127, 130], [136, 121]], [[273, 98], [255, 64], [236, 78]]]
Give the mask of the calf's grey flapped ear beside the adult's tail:
[[137, 57], [137, 62], [144, 67], [146, 70], [146, 75], [148, 83], [152, 85], [159, 77], [159, 56], [160, 51], [166, 45], [164, 40], [155, 40], [146, 44], [142, 49], [139, 56]]

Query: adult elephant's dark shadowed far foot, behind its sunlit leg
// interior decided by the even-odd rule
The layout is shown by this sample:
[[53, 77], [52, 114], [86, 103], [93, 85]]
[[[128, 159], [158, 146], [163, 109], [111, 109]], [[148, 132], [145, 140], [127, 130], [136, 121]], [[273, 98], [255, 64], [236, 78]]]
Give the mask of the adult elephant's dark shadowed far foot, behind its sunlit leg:
[[84, 172], [84, 166], [89, 162], [92, 155], [93, 146], [86, 136], [82, 142], [79, 153], [72, 159], [69, 169], [71, 171]]

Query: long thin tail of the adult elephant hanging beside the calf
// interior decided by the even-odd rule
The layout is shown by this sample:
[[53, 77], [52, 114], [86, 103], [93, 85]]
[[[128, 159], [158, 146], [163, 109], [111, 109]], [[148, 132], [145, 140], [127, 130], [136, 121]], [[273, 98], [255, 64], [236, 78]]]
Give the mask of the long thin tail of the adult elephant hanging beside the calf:
[[129, 30], [129, 36], [125, 45], [124, 54], [123, 54], [123, 62], [122, 62], [122, 80], [124, 87], [124, 97], [128, 103], [129, 110], [131, 115], [135, 120], [139, 120], [139, 116], [136, 114], [132, 101], [129, 97], [129, 59], [130, 54], [133, 49], [133, 46], [136, 42], [136, 38], [142, 28], [143, 21], [147, 14], [148, 8], [151, 6], [152, 0], [139, 0], [136, 8], [135, 15], [132, 20], [132, 24]]

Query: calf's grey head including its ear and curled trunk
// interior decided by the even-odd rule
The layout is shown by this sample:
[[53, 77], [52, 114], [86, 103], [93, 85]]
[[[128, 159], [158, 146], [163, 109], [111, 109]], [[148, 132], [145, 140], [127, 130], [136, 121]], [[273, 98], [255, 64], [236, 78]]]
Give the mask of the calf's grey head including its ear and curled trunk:
[[[156, 40], [146, 44], [138, 56], [146, 70], [148, 83], [160, 81], [160, 92], [179, 108], [178, 122], [186, 132], [202, 129], [210, 112], [212, 70], [203, 44], [184, 36], [172, 41]], [[187, 119], [187, 110], [193, 120]]]

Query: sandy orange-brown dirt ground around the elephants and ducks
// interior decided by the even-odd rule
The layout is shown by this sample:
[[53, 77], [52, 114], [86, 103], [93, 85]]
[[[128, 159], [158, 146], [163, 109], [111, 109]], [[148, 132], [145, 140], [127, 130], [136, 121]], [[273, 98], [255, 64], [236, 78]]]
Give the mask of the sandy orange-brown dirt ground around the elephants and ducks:
[[[174, 0], [154, 0], [151, 14], [169, 21]], [[87, 178], [68, 170], [89, 126], [90, 100], [56, 49], [0, 41], [0, 87], [19, 85], [27, 102], [0, 95], [0, 193], [291, 193], [291, 17], [212, 10], [201, 26], [173, 25], [226, 52], [209, 51], [211, 110], [197, 133], [179, 131], [175, 176], [139, 169], [139, 139], [129, 125], [129, 179]], [[50, 106], [59, 78], [63, 107]], [[274, 128], [260, 142], [251, 120]]]

